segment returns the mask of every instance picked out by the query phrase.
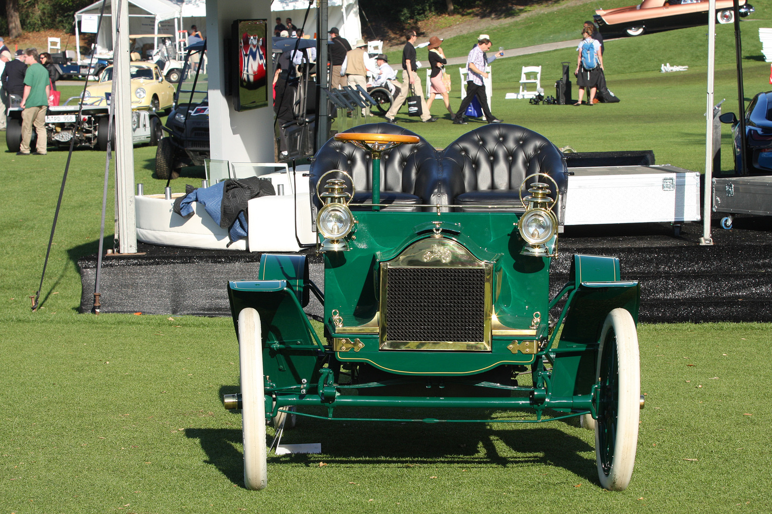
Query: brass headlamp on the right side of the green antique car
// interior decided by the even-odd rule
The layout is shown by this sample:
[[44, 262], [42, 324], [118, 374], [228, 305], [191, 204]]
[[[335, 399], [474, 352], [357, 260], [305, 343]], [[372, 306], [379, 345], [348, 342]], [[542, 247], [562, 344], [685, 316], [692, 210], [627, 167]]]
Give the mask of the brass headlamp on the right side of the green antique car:
[[[536, 173], [540, 176], [547, 176], [543, 173]], [[520, 237], [523, 237], [526, 245], [520, 250], [521, 255], [530, 255], [532, 257], [555, 257], [557, 253], [557, 217], [552, 212], [552, 207], [557, 202], [550, 198], [550, 185], [543, 182], [534, 182], [531, 184], [528, 192], [530, 196], [523, 198], [522, 191], [527, 176], [520, 185], [520, 200], [526, 207], [525, 212], [517, 221], [517, 230], [520, 231]], [[552, 177], [547, 176], [552, 180]], [[552, 180], [554, 183], [554, 180]], [[557, 183], [555, 183], [557, 191]]]

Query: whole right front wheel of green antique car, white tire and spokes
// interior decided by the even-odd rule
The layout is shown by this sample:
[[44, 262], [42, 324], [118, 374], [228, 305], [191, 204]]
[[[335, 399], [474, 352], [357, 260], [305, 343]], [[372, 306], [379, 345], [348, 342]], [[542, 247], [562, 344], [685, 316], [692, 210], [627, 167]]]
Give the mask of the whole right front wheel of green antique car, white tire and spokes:
[[635, 466], [641, 409], [638, 333], [628, 311], [616, 308], [606, 317], [598, 348], [596, 377], [600, 408], [595, 422], [595, 456], [604, 489], [627, 489]]

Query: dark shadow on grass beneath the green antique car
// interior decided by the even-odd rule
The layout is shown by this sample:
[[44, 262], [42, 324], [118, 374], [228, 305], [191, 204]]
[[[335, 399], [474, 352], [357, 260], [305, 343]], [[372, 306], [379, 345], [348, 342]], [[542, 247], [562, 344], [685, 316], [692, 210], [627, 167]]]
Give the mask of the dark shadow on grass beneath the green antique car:
[[[303, 409], [314, 415], [324, 415], [322, 409]], [[353, 408], [343, 409], [347, 417], [354, 417]], [[338, 409], [336, 409], [337, 413]], [[422, 409], [367, 409], [368, 417], [394, 418], [411, 415], [440, 415], [447, 413]], [[494, 411], [479, 411], [476, 418], [492, 418]], [[414, 414], [415, 413], [415, 414]], [[363, 413], [359, 413], [364, 415]], [[344, 413], [340, 412], [343, 416]], [[235, 418], [239, 416], [236, 415]], [[565, 427], [565, 424], [562, 424]], [[530, 425], [533, 426], [533, 425]], [[584, 442], [573, 430], [580, 428], [533, 427], [490, 423], [421, 423], [421, 422], [327, 422], [323, 419], [299, 416], [297, 427], [284, 433], [282, 442], [322, 442], [324, 462], [345, 465], [414, 465], [460, 466], [531, 466], [555, 465], [596, 483], [598, 475], [594, 459], [582, 455], [593, 447]], [[206, 452], [206, 463], [215, 465], [232, 483], [243, 485], [243, 454], [237, 448], [242, 444], [240, 429], [188, 428], [188, 438], [198, 438]], [[273, 440], [273, 429], [268, 428], [266, 445]], [[286, 462], [315, 466], [320, 457], [295, 454], [269, 454], [269, 465]]]

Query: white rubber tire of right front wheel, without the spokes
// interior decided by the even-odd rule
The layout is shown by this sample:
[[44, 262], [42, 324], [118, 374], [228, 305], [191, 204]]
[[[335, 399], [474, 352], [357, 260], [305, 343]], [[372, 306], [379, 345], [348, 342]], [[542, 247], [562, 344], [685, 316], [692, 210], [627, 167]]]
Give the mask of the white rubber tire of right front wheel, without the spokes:
[[595, 455], [598, 462], [598, 479], [604, 489], [623, 491], [630, 483], [635, 466], [635, 450], [638, 446], [638, 422], [641, 417], [641, 365], [635, 321], [628, 311], [616, 308], [608, 313], [601, 331], [596, 377], [603, 376], [601, 374], [604, 365], [603, 352], [609, 330], [613, 330], [616, 336], [618, 402], [616, 436], [608, 472], [604, 469], [601, 455], [601, 431], [604, 430], [602, 412], [598, 412], [598, 421], [595, 424]]

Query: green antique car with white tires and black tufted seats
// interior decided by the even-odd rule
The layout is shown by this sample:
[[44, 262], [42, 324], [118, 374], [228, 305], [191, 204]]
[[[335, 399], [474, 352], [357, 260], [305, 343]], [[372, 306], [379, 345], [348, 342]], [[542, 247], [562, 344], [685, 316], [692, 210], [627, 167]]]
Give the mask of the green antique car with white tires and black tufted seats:
[[[448, 422], [492, 422], [473, 409], [533, 411], [496, 422], [581, 417], [600, 484], [627, 487], [640, 290], [615, 257], [574, 255], [550, 299], [567, 185], [552, 143], [494, 124], [438, 151], [375, 123], [330, 139], [310, 184], [323, 284], [305, 254], [263, 254], [257, 280], [229, 283], [241, 392], [225, 407], [242, 410], [248, 489], [266, 487], [266, 422], [349, 422], [344, 406], [410, 408], [404, 422], [438, 421], [415, 419], [418, 408], [458, 409]], [[312, 293], [324, 340], [303, 311]]]

